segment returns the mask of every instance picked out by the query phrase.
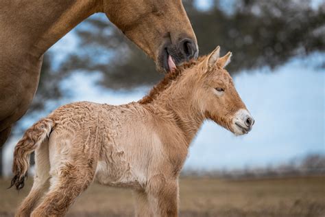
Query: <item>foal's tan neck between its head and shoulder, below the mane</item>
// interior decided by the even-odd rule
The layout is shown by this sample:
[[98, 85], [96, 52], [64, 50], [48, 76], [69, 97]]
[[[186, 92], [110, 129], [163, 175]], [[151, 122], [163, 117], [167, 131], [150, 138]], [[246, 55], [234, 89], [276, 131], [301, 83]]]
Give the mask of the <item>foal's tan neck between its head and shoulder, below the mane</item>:
[[169, 116], [173, 117], [175, 124], [182, 130], [187, 145], [191, 143], [204, 122], [204, 115], [195, 102], [194, 86], [195, 78], [179, 78], [152, 102], [154, 106], [167, 111]]

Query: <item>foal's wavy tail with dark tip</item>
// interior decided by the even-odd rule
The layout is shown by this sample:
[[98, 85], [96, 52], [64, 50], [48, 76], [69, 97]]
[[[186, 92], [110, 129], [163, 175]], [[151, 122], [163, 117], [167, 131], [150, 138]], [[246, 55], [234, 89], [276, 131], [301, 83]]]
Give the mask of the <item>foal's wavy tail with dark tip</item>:
[[14, 162], [12, 164], [14, 178], [12, 178], [10, 187], [15, 185], [17, 190], [21, 190], [24, 187], [25, 177], [27, 177], [27, 170], [29, 168], [30, 154], [49, 137], [53, 126], [55, 126], [53, 119], [40, 119], [26, 130], [23, 138], [16, 144], [14, 148]]

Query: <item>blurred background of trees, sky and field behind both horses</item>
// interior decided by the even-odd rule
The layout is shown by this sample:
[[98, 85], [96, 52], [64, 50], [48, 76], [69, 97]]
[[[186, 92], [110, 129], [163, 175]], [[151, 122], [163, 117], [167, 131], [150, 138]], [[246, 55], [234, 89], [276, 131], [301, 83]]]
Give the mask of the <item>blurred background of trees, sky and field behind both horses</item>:
[[[182, 172], [181, 213], [324, 216], [324, 1], [187, 0], [183, 4], [200, 55], [217, 45], [221, 54], [232, 52], [227, 69], [256, 123], [243, 137], [212, 122], [202, 126]], [[163, 76], [104, 14], [89, 17], [46, 53], [36, 97], [3, 150], [3, 176], [10, 176], [16, 141], [40, 117], [80, 100], [108, 104], [139, 100]], [[96, 195], [101, 190], [95, 194], [96, 190], [89, 190], [70, 215], [94, 216], [82, 200], [99, 201]], [[121, 201], [110, 201], [112, 209], [98, 208], [104, 216], [119, 216], [120, 209], [125, 212], [122, 216], [132, 214], [132, 207], [125, 209], [132, 202], [123, 198], [130, 192], [107, 191], [119, 194]], [[10, 195], [14, 198], [16, 193]], [[0, 216], [14, 210], [9, 203], [3, 206], [9, 211], [0, 207]]]

